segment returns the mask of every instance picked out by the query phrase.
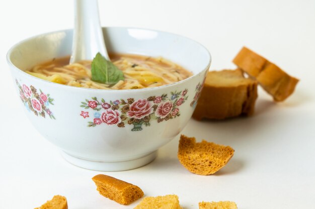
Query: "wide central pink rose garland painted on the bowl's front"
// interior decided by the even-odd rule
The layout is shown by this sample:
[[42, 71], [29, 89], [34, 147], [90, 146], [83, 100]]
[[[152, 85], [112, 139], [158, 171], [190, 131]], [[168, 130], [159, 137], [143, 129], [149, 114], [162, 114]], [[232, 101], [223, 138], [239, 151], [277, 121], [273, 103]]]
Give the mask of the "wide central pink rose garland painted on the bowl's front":
[[[92, 109], [94, 118], [88, 121], [88, 127], [97, 125], [117, 125], [120, 128], [126, 125], [133, 125], [131, 131], [140, 131], [142, 126], [150, 126], [151, 120], [158, 123], [164, 120], [170, 120], [180, 116], [179, 106], [188, 99], [188, 90], [171, 92], [161, 96], [151, 96], [146, 99], [128, 98], [127, 100], [107, 100], [92, 97], [92, 100], [86, 99], [81, 102], [80, 107]], [[82, 113], [89, 115], [89, 112]], [[81, 115], [82, 115], [81, 113]], [[82, 115], [83, 116], [83, 115]], [[84, 117], [88, 118], [88, 116]]]

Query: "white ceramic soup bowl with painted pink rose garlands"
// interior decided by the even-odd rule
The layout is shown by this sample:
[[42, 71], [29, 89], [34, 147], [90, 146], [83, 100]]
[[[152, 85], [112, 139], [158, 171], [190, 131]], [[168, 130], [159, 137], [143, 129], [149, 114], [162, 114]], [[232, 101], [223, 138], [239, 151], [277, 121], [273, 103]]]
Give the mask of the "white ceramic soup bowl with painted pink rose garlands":
[[152, 161], [190, 119], [211, 57], [182, 36], [133, 28], [104, 28], [109, 52], [162, 56], [193, 72], [166, 86], [95, 90], [60, 85], [24, 70], [71, 54], [72, 30], [52, 32], [12, 47], [7, 59], [23, 108], [34, 127], [70, 163], [117, 171]]

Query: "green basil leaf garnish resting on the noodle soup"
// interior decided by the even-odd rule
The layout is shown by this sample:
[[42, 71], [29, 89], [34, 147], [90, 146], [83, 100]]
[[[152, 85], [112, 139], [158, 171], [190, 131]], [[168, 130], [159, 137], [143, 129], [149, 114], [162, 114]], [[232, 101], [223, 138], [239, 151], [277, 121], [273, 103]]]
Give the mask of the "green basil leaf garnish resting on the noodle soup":
[[92, 81], [112, 85], [125, 79], [123, 72], [100, 53], [96, 54], [91, 68]]

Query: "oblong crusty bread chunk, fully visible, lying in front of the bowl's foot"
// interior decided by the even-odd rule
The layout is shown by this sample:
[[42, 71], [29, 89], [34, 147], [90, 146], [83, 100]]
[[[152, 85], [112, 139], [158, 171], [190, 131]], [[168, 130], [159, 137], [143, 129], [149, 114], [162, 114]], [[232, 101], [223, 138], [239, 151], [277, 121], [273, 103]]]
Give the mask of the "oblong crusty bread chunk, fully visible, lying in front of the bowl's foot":
[[100, 194], [120, 204], [129, 204], [143, 196], [138, 186], [109, 175], [99, 174], [92, 179]]

